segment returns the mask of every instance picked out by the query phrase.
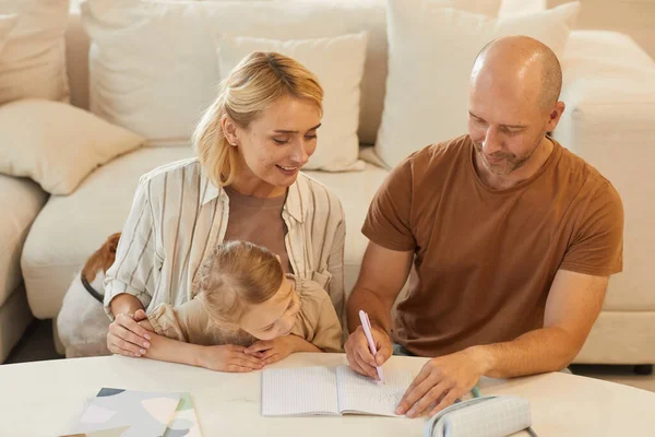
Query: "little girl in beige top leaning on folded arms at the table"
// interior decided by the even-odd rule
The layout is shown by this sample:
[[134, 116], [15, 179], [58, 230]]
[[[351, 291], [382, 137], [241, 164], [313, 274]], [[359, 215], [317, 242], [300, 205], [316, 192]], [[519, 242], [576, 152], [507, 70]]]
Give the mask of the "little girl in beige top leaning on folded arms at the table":
[[342, 351], [342, 328], [327, 293], [285, 276], [279, 259], [261, 246], [218, 245], [203, 261], [193, 291], [190, 302], [176, 308], [160, 304], [141, 321], [164, 335], [153, 335], [146, 357], [250, 371], [294, 352]]

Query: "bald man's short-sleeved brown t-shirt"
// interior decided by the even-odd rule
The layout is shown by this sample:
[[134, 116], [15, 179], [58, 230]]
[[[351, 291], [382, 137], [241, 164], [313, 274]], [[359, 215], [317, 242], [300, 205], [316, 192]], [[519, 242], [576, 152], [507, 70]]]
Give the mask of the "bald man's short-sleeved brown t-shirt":
[[468, 135], [418, 151], [392, 170], [362, 233], [415, 252], [394, 341], [424, 356], [510, 341], [541, 328], [559, 269], [622, 269], [623, 210], [611, 184], [559, 143], [529, 179], [485, 186]]

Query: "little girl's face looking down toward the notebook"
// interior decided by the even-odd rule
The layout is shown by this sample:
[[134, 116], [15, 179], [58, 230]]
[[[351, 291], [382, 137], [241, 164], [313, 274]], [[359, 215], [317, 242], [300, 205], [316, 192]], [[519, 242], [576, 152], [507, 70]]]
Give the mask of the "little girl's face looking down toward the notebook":
[[241, 319], [241, 329], [260, 340], [272, 340], [291, 332], [300, 302], [294, 282], [286, 276], [269, 300], [252, 305]]

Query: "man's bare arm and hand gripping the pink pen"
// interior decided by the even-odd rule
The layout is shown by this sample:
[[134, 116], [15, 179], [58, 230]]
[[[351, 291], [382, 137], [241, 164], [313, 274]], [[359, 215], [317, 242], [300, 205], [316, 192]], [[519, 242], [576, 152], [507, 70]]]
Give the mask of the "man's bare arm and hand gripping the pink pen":
[[[383, 364], [392, 354], [389, 336], [391, 309], [407, 281], [413, 259], [413, 251], [390, 250], [372, 241], [366, 249], [359, 277], [346, 305], [350, 336], [344, 347], [350, 367], [359, 374], [377, 379], [374, 366]], [[378, 350], [376, 358], [369, 351], [359, 322], [360, 309], [364, 309], [371, 320], [373, 341]]]

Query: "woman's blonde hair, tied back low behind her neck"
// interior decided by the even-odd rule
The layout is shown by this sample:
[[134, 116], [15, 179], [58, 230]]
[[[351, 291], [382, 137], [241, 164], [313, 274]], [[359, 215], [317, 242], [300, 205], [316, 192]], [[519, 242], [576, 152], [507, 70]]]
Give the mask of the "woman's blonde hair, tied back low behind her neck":
[[202, 167], [217, 187], [235, 178], [236, 147], [223, 132], [223, 117], [247, 128], [272, 103], [284, 96], [306, 98], [322, 111], [323, 88], [298, 61], [276, 52], [248, 55], [218, 85], [218, 96], [203, 114], [192, 143]]

